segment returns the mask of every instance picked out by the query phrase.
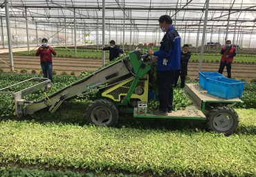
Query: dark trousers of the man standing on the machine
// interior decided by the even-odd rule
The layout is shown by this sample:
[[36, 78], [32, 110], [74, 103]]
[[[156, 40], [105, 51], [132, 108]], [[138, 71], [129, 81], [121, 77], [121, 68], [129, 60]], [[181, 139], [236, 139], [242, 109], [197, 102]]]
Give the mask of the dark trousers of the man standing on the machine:
[[156, 72], [159, 110], [167, 112], [172, 110], [174, 71]]

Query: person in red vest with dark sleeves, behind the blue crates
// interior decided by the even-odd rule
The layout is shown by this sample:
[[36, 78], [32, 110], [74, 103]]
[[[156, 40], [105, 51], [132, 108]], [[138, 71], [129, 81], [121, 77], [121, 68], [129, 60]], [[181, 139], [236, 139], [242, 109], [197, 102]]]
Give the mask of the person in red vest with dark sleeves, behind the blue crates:
[[236, 56], [235, 48], [231, 46], [231, 41], [226, 41], [226, 46], [221, 49], [221, 63], [219, 65], [219, 74], [223, 73], [224, 67], [226, 66], [228, 72], [228, 78], [231, 79], [231, 63], [233, 62], [234, 56]]

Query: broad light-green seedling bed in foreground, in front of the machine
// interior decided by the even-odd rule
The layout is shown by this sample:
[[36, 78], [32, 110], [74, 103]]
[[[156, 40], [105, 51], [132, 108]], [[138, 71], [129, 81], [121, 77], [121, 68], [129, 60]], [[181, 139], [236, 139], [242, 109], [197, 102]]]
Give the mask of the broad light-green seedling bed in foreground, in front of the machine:
[[1, 121], [0, 163], [176, 176], [255, 176], [255, 134]]

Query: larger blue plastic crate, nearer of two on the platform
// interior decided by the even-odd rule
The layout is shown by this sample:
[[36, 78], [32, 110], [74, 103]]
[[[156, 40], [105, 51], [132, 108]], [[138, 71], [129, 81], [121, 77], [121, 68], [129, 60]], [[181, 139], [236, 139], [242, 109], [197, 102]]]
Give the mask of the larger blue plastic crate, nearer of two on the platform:
[[210, 77], [206, 80], [208, 82], [208, 94], [226, 99], [241, 97], [244, 85], [246, 85], [244, 81], [237, 81], [225, 77]]

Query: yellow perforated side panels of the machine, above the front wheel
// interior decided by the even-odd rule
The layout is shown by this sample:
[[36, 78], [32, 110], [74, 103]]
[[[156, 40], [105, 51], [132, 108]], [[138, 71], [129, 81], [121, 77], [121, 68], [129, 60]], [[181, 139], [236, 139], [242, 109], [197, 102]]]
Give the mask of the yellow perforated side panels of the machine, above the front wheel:
[[[131, 78], [117, 85], [109, 87], [107, 90], [102, 92], [102, 96], [111, 98], [113, 101], [121, 101], [121, 96], [126, 96], [131, 83], [134, 81], [134, 78]], [[138, 98], [140, 101], [147, 101], [149, 94], [149, 76], [147, 75], [147, 80], [139, 80], [136, 88], [131, 94], [131, 98]]]

